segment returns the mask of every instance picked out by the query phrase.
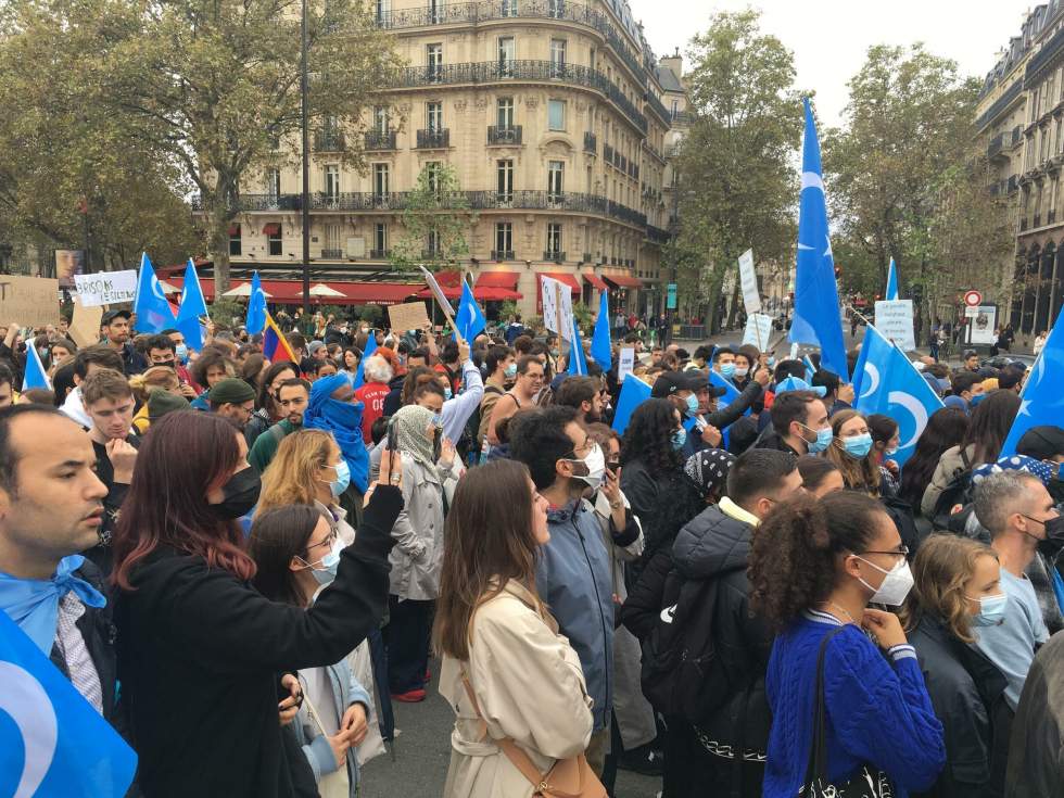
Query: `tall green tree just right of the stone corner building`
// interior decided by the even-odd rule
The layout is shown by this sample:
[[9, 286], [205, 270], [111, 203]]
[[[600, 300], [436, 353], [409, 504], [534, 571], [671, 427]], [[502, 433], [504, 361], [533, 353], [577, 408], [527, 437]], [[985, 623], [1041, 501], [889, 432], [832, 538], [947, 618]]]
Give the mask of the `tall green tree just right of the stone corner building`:
[[668, 255], [685, 300], [694, 293], [709, 303], [710, 330], [720, 321], [724, 277], [745, 250], [794, 259], [801, 97], [793, 54], [759, 23], [753, 10], [714, 14], [688, 49], [694, 121], [676, 164], [681, 226]]

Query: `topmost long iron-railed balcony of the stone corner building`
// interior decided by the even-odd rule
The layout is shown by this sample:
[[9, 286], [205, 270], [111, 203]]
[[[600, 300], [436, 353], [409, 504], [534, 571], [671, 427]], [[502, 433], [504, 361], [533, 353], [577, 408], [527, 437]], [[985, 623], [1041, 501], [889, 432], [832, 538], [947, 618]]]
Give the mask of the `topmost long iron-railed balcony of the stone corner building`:
[[559, 20], [598, 31], [633, 77], [642, 84], [647, 66], [624, 42], [620, 31], [603, 12], [566, 0], [480, 0], [479, 2], [401, 9], [377, 14], [378, 27], [391, 30], [434, 25], [476, 25], [495, 20]]

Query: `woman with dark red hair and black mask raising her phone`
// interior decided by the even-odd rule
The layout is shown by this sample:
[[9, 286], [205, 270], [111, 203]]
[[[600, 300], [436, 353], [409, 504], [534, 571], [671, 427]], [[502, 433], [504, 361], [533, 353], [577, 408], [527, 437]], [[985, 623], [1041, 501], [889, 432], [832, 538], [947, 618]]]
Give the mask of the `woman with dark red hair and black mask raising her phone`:
[[[315, 568], [335, 580], [309, 609], [270, 601], [236, 519], [258, 499], [243, 436], [213, 414], [153, 423], [114, 540], [118, 671], [145, 796], [293, 794], [281, 723], [302, 700], [292, 673], [332, 664], [375, 629], [388, 600], [385, 482], [367, 494], [356, 541]], [[396, 474], [400, 469], [396, 469]], [[278, 708], [289, 711], [281, 715]]]

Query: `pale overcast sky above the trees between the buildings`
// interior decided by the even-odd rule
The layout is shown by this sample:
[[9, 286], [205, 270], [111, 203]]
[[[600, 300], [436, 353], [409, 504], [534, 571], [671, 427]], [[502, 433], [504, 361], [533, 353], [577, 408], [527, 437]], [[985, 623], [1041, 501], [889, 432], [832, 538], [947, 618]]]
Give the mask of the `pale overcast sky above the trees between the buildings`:
[[[632, 15], [659, 58], [679, 46], [683, 53], [693, 31], [708, 27], [715, 11], [762, 11], [761, 26], [795, 54], [797, 85], [816, 92], [816, 112], [827, 125], [841, 121], [846, 84], [860, 69], [873, 45], [909, 46], [953, 59], [962, 72], [986, 74], [998, 50], [1019, 33], [1029, 0], [629, 0]], [[686, 64], [685, 64], [686, 68]]]

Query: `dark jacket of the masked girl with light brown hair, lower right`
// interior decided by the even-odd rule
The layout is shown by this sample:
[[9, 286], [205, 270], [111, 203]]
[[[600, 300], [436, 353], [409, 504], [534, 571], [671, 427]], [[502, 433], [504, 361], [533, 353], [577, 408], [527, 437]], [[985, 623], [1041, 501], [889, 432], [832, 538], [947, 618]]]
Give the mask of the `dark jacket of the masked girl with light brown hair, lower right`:
[[946, 732], [946, 768], [913, 798], [1001, 798], [1012, 725], [1005, 677], [936, 618], [921, 618], [909, 642]]

